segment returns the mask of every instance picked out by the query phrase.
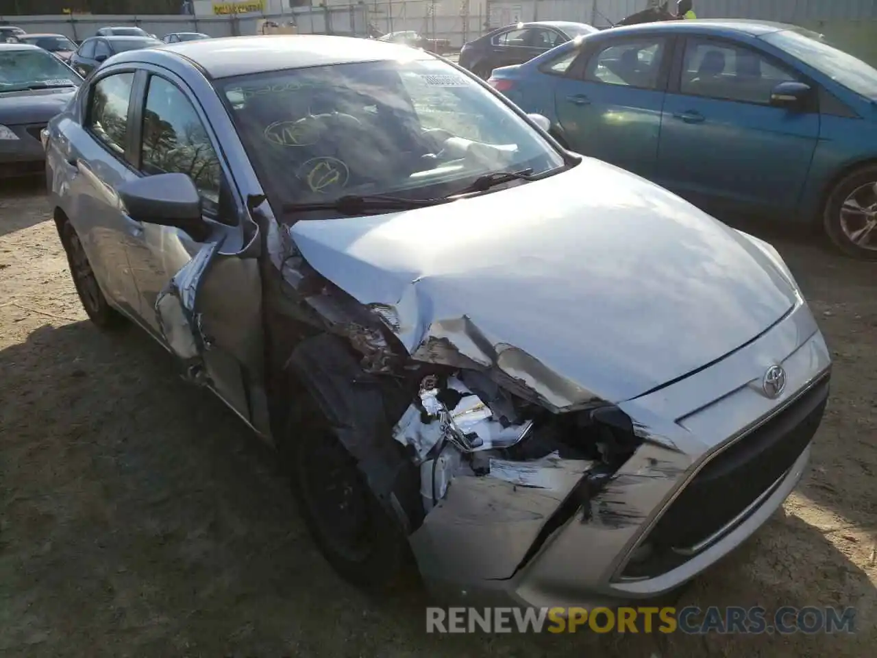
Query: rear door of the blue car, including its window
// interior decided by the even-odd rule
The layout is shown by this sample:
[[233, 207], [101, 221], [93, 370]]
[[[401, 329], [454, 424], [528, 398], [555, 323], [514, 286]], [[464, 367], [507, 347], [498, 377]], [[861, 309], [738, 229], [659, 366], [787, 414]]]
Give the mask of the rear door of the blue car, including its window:
[[671, 39], [600, 39], [554, 88], [563, 134], [574, 151], [651, 177], [658, 158]]

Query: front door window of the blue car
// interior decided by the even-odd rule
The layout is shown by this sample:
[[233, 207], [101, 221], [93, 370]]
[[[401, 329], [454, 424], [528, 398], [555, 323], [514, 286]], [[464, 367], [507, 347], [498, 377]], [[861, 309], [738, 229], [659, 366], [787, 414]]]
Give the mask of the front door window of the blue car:
[[771, 90], [794, 75], [745, 46], [688, 39], [679, 90], [689, 96], [769, 104]]

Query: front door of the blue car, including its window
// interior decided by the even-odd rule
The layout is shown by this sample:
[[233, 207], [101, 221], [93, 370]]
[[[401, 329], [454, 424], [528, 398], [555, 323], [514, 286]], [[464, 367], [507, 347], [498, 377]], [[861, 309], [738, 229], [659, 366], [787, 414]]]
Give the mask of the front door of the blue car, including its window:
[[819, 137], [816, 99], [769, 104], [780, 82], [807, 82], [749, 44], [689, 37], [678, 49], [661, 118], [656, 180], [695, 204], [792, 211]]

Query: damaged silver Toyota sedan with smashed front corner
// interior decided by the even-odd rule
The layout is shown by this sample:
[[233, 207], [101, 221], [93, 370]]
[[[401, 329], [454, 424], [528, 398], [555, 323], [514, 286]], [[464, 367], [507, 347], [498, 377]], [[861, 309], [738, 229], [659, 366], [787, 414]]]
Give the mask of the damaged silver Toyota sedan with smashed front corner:
[[89, 317], [275, 445], [384, 588], [676, 590], [802, 476], [831, 360], [765, 242], [453, 65], [335, 37], [120, 54], [44, 135]]

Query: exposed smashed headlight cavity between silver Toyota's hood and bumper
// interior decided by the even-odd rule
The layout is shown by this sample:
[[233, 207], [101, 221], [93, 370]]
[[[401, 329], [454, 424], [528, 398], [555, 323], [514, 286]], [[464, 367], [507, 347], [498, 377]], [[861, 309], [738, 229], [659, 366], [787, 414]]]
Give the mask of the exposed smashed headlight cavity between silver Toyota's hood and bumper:
[[[518, 487], [561, 490], [574, 461], [597, 484], [628, 459], [639, 440], [621, 411], [599, 407], [557, 416], [516, 400], [477, 371], [427, 375], [393, 438], [419, 467], [424, 511], [458, 476], [490, 476]], [[583, 502], [583, 501], [582, 501]]]

